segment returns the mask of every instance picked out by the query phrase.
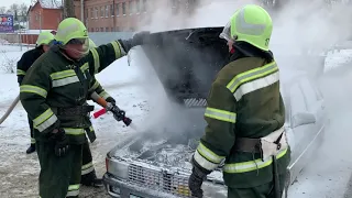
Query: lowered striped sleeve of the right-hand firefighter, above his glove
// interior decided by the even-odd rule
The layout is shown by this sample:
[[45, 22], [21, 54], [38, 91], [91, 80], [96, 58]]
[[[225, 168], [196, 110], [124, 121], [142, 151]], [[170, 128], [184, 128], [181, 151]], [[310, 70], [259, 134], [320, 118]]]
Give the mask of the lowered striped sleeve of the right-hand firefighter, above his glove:
[[230, 154], [234, 144], [235, 99], [219, 81], [212, 84], [205, 112], [206, 134], [195, 152], [194, 161], [213, 170]]

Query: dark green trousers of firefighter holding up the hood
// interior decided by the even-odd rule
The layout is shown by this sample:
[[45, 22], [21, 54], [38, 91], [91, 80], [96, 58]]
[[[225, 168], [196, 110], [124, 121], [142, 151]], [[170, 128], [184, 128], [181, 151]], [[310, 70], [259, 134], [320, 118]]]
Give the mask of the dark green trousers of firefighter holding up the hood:
[[70, 144], [65, 156], [58, 157], [52, 142], [36, 142], [41, 165], [41, 198], [78, 197], [82, 145]]

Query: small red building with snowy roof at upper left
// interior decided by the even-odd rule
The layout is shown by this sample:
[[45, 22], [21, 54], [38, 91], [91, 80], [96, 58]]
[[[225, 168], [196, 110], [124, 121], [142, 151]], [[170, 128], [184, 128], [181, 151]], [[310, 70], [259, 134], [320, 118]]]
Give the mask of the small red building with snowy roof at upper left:
[[30, 30], [56, 30], [63, 20], [62, 1], [37, 0], [29, 8]]

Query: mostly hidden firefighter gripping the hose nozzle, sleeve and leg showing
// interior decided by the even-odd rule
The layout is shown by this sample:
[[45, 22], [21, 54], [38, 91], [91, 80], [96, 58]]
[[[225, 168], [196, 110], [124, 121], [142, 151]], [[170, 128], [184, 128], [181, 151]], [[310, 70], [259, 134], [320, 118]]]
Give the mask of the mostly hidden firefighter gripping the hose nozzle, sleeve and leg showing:
[[[89, 48], [95, 48], [97, 45], [89, 38]], [[88, 90], [88, 95], [91, 92], [97, 92], [100, 97], [106, 99], [106, 101], [116, 105], [116, 100], [101, 87], [101, 85], [94, 79], [94, 85], [91, 85], [90, 90]], [[94, 131], [90, 128], [90, 131]], [[91, 141], [91, 143], [94, 140]], [[92, 156], [89, 148], [88, 141], [82, 145], [82, 165], [81, 165], [81, 178], [80, 184], [85, 186], [92, 186], [92, 187], [102, 187], [102, 179], [97, 178], [95, 167], [92, 165]]]

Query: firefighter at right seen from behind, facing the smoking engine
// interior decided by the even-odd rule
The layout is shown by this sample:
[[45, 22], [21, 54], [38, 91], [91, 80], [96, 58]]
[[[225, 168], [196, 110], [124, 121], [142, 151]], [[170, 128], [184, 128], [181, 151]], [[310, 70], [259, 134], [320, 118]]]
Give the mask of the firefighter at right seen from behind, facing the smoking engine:
[[207, 99], [206, 132], [188, 180], [195, 197], [202, 197], [202, 182], [220, 165], [229, 198], [278, 198], [283, 193], [290, 150], [278, 67], [268, 48], [272, 30], [270, 14], [248, 4], [220, 34], [232, 54]]

